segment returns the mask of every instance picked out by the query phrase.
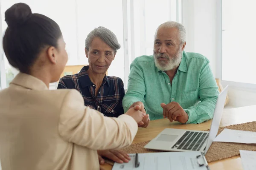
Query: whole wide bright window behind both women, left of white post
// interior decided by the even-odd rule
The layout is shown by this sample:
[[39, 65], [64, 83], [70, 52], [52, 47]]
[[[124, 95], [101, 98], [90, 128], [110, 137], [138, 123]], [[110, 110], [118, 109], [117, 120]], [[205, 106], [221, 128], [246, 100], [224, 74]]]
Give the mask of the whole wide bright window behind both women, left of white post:
[[[55, 20], [61, 28], [68, 54], [67, 65], [87, 65], [84, 54], [84, 42], [87, 34], [98, 26], [104, 26], [116, 34], [121, 49], [118, 50], [115, 60], [108, 70], [108, 75], [115, 75], [124, 79], [123, 60], [123, 23], [122, 23], [122, 1], [120, 0], [95, 0], [87, 1], [63, 1], [63, 0], [1, 0], [1, 18], [4, 21], [4, 12], [15, 3], [27, 3], [33, 13], [41, 13]], [[101, 6], [99, 6], [101, 3]], [[49, 5], [50, 4], [50, 5]], [[61, 8], [56, 11], [56, 6]], [[115, 5], [113, 5], [115, 4]], [[90, 6], [90, 7], [89, 7]], [[85, 10], [86, 9], [86, 10]], [[7, 24], [2, 23], [3, 31]], [[4, 32], [3, 32], [4, 33]], [[2, 48], [2, 47], [1, 47]], [[5, 57], [6, 83], [16, 76], [17, 70], [12, 68]], [[119, 71], [116, 71], [119, 70]]]

